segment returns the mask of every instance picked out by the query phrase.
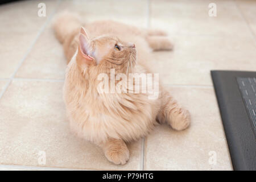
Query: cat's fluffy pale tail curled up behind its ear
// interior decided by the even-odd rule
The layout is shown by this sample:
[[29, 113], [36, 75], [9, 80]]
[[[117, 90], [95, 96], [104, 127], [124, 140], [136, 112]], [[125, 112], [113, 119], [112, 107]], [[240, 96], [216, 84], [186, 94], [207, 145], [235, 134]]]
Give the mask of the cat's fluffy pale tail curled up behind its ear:
[[65, 38], [67, 38], [74, 30], [80, 28], [81, 25], [82, 21], [80, 16], [68, 11], [56, 15], [52, 23], [56, 38], [60, 43], [63, 43]]

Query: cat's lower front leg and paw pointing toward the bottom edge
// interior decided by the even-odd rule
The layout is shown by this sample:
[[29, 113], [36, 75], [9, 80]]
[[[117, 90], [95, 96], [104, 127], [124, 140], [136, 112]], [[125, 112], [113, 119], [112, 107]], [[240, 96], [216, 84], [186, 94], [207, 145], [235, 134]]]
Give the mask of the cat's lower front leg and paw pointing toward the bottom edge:
[[125, 164], [129, 160], [129, 150], [121, 139], [108, 139], [98, 145], [104, 151], [106, 158], [114, 164]]

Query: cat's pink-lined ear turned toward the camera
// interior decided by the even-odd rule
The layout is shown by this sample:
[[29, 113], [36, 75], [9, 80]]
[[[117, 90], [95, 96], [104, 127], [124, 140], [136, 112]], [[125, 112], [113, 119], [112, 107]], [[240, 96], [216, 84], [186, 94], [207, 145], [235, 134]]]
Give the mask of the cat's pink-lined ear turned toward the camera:
[[82, 71], [88, 68], [93, 63], [94, 58], [90, 56], [90, 42], [87, 36], [79, 34], [79, 47], [77, 50], [76, 63], [79, 65]]

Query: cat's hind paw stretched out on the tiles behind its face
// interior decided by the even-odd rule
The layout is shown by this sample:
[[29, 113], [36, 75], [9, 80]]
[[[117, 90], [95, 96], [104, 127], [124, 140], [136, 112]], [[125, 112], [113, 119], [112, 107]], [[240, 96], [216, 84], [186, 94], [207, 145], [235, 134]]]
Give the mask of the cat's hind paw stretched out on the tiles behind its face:
[[146, 40], [154, 51], [172, 50], [174, 48], [166, 36], [147, 36]]

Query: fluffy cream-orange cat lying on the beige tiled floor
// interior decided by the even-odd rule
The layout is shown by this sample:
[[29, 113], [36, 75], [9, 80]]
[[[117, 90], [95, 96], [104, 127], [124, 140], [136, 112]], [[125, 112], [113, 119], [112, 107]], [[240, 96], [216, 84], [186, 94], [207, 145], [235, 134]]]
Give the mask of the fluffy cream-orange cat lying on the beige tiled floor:
[[57, 15], [53, 28], [68, 60], [63, 97], [71, 129], [100, 146], [110, 162], [125, 164], [130, 156], [126, 143], [145, 137], [159, 123], [166, 122], [175, 130], [189, 126], [189, 111], [160, 82], [156, 99], [149, 99], [149, 93], [102, 93], [98, 89], [101, 73], [110, 77], [108, 83], [117, 82], [110, 76], [113, 69], [115, 76], [152, 73], [151, 52], [172, 49], [164, 31], [112, 20], [83, 23], [69, 12]]

